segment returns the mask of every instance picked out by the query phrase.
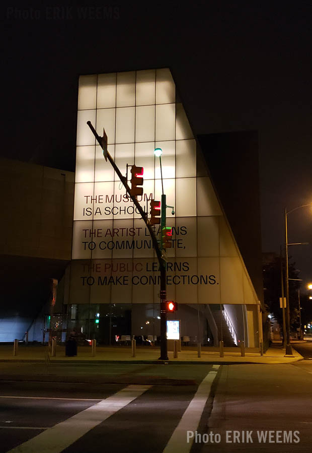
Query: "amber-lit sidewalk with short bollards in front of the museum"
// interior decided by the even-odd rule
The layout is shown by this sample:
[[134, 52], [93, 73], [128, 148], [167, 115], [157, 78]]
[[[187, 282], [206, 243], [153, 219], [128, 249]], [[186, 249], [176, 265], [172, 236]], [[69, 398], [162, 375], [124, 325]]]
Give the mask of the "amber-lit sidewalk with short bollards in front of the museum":
[[[168, 363], [181, 364], [234, 364], [234, 363], [292, 363], [302, 359], [293, 349], [294, 357], [284, 357], [285, 349], [273, 345], [261, 356], [256, 348], [246, 348], [245, 357], [241, 357], [239, 348], [224, 348], [224, 357], [220, 357], [217, 348], [202, 348], [201, 357], [197, 357], [196, 348], [183, 348], [178, 358], [169, 352]], [[96, 356], [91, 356], [91, 347], [78, 347], [76, 357], [66, 357], [65, 347], [56, 347], [56, 356], [50, 357], [47, 346], [19, 345], [18, 354], [13, 356], [13, 345], [0, 346], [0, 362], [42, 362], [42, 363], [162, 363], [158, 360], [160, 349], [157, 347], [137, 347], [136, 357], [131, 357], [130, 347], [97, 347]], [[167, 362], [167, 361], [166, 361]]]

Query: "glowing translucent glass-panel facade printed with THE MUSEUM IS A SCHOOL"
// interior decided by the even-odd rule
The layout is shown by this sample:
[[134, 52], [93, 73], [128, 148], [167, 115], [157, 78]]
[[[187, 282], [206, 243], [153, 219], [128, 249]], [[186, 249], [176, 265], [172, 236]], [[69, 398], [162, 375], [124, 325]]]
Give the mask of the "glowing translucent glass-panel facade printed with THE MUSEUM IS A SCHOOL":
[[[199, 150], [169, 69], [82, 76], [79, 87], [69, 303], [159, 309], [160, 273], [151, 238], [95, 143], [90, 120], [100, 136], [105, 128], [108, 150], [123, 175], [127, 164], [143, 166], [138, 201], [148, 215], [150, 200], [161, 200], [160, 160], [153, 151], [163, 149], [164, 191], [174, 206], [174, 214], [167, 209], [167, 225], [173, 227], [167, 298], [199, 304], [203, 312], [206, 304], [257, 304], [212, 182], [197, 168]], [[158, 226], [155, 232], [160, 237]]]

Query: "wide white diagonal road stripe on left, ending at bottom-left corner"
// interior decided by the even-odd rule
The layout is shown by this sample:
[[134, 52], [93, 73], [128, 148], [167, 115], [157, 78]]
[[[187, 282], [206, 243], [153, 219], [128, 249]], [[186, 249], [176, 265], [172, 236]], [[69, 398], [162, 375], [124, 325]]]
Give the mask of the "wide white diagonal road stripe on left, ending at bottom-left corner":
[[138, 398], [150, 387], [151, 385], [128, 385], [106, 400], [57, 423], [52, 428], [46, 429], [9, 451], [14, 453], [34, 453], [34, 451], [60, 453], [92, 428]]

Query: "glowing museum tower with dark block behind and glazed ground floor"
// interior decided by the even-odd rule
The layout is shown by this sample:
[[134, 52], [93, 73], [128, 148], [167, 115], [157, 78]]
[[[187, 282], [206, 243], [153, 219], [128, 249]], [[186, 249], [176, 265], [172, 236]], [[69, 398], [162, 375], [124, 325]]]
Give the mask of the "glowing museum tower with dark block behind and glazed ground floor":
[[[248, 168], [247, 157], [258, 158], [257, 134], [196, 139], [169, 69], [79, 79], [71, 261], [53, 302], [54, 313], [62, 313], [62, 330], [99, 344], [114, 344], [116, 336], [153, 340], [160, 335], [160, 272], [152, 241], [105, 161], [89, 120], [99, 135], [105, 127], [108, 151], [122, 174], [127, 164], [143, 167], [138, 201], [148, 217], [150, 200], [162, 195], [160, 159], [153, 151], [163, 150], [164, 193], [174, 207], [167, 209], [173, 232], [166, 252], [167, 299], [178, 303], [168, 319], [180, 320], [182, 340], [213, 346], [222, 337], [227, 346], [245, 340], [247, 346], [259, 347], [258, 170]], [[210, 157], [209, 150], [215, 151]], [[249, 204], [258, 208], [256, 218], [248, 212]], [[160, 226], [154, 228], [160, 238]], [[46, 313], [44, 329], [47, 319]], [[29, 339], [42, 341], [40, 329], [31, 333], [35, 326], [33, 322]]]

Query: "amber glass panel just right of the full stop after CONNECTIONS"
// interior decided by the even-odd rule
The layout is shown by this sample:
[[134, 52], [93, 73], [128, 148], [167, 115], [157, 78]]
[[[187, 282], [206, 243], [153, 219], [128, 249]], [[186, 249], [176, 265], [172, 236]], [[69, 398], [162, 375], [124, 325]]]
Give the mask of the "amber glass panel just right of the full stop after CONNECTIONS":
[[220, 258], [221, 303], [244, 303], [240, 258]]

